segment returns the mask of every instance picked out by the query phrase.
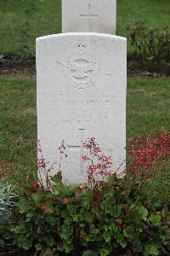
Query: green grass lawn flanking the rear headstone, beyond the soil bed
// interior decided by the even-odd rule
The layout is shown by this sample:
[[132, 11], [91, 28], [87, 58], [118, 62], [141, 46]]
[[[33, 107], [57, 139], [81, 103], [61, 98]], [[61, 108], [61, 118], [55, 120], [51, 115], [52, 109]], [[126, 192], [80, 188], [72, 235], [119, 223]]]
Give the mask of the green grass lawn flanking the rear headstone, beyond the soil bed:
[[[36, 0], [37, 1], [37, 0]], [[38, 2], [38, 1], [37, 1]], [[20, 55], [21, 30], [23, 30], [23, 10], [26, 3], [22, 0], [0, 1], [0, 55]], [[129, 38], [129, 22], [144, 20], [147, 26], [169, 26], [169, 0], [117, 0], [116, 34]], [[35, 38], [61, 32], [61, 1], [44, 0], [31, 20], [31, 54], [35, 51]], [[128, 53], [132, 52], [130, 44]]]

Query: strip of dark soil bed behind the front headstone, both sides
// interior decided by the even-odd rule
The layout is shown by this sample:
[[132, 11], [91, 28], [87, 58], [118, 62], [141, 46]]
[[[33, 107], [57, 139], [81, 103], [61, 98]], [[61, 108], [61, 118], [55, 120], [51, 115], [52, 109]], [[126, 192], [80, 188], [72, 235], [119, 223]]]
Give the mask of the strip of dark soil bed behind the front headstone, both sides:
[[[22, 60], [20, 56], [4, 56], [3, 59], [0, 58], [0, 76], [36, 78], [36, 60], [33, 57]], [[144, 70], [134, 60], [127, 60], [127, 76], [170, 78], [170, 75], [167, 73], [155, 73]]]

